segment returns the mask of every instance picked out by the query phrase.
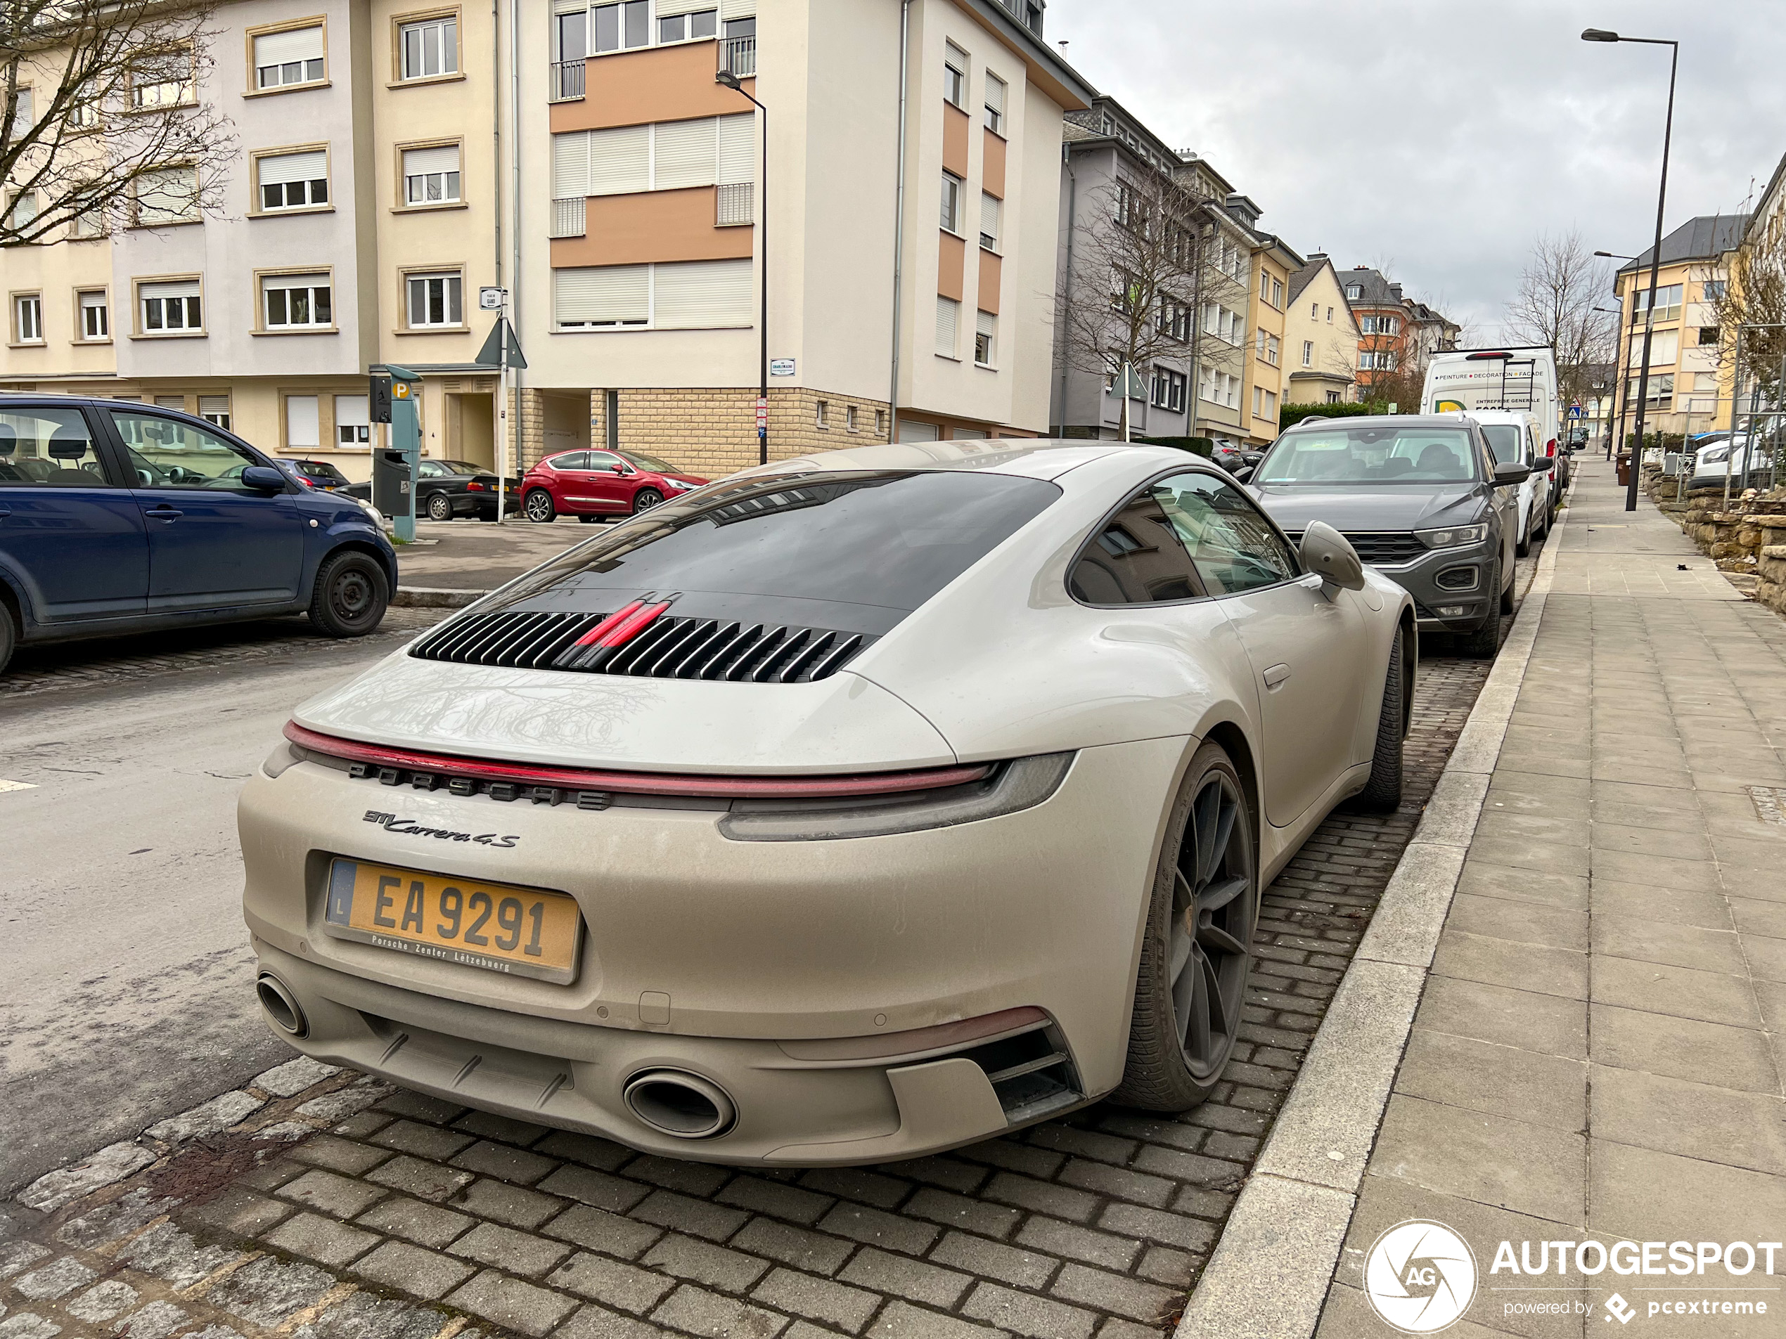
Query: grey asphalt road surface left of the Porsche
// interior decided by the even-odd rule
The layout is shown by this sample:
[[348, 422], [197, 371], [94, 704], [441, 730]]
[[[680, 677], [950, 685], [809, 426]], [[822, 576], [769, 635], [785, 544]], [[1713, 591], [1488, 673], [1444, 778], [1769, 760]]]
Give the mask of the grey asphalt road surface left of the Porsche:
[[0, 1196], [289, 1057], [259, 1021], [236, 794], [329, 645], [0, 705]]

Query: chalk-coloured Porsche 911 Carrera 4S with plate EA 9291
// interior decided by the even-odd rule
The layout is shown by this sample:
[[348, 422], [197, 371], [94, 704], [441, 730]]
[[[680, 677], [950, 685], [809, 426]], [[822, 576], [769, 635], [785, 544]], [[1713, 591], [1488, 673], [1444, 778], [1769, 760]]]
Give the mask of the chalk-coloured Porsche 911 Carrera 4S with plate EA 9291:
[[270, 1023], [716, 1162], [909, 1159], [1234, 1050], [1259, 889], [1393, 807], [1415, 612], [1159, 446], [782, 461], [298, 709], [241, 796]]

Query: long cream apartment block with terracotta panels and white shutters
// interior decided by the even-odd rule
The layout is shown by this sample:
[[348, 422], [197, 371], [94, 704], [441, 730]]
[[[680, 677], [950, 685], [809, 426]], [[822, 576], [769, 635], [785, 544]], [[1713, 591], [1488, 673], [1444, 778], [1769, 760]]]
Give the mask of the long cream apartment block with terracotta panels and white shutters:
[[1039, 4], [904, 20], [895, 0], [229, 0], [211, 73], [170, 95], [234, 121], [221, 209], [170, 168], [116, 236], [0, 255], [0, 387], [177, 405], [364, 477], [366, 375], [391, 362], [423, 378], [423, 450], [491, 464], [479, 289], [500, 287], [527, 361], [518, 466], [580, 443], [752, 464], [764, 359], [777, 457], [895, 421], [1039, 434], [1061, 116], [1091, 89]]

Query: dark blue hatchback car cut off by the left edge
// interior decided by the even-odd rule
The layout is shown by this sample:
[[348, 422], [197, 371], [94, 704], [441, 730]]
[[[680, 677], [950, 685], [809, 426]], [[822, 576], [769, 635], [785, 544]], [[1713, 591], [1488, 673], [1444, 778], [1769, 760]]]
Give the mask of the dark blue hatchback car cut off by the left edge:
[[359, 503], [204, 420], [0, 395], [0, 670], [18, 645], [298, 612], [359, 637], [395, 587]]

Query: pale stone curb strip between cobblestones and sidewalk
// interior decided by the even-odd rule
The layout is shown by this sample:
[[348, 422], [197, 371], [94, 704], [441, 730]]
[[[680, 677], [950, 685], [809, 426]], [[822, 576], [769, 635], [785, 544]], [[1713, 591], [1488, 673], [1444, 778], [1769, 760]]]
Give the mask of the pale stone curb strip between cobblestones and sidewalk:
[[1320, 1323], [1427, 968], [1538, 639], [1566, 523], [1565, 505], [1513, 630], [1173, 1339], [1309, 1339]]

